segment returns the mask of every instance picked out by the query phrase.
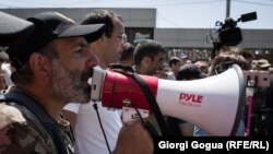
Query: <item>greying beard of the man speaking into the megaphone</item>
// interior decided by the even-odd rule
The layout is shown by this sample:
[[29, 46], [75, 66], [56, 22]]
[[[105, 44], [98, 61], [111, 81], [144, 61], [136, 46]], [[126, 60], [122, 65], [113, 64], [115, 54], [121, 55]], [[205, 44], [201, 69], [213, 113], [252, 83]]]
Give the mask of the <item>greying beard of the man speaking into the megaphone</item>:
[[93, 74], [93, 68], [85, 71], [67, 71], [58, 60], [52, 61], [52, 96], [67, 103], [88, 103], [91, 86], [88, 78]]

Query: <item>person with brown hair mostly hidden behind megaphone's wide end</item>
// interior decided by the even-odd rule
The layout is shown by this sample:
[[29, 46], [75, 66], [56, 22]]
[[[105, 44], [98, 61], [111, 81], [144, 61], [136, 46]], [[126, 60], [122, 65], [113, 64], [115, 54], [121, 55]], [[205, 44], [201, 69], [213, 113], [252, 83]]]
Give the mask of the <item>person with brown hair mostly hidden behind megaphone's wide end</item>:
[[[223, 51], [223, 52], [219, 52], [212, 61], [209, 76], [219, 74], [226, 71], [227, 69], [229, 69], [233, 64], [238, 64], [241, 68], [241, 70], [250, 69], [249, 61], [247, 61], [241, 55], [238, 55], [234, 51]], [[235, 135], [244, 137], [245, 132], [246, 132], [245, 120], [242, 116], [240, 123], [239, 123], [239, 128]], [[202, 130], [201, 128], [194, 126], [193, 135], [194, 137], [207, 137], [210, 134], [205, 132], [204, 130]]]

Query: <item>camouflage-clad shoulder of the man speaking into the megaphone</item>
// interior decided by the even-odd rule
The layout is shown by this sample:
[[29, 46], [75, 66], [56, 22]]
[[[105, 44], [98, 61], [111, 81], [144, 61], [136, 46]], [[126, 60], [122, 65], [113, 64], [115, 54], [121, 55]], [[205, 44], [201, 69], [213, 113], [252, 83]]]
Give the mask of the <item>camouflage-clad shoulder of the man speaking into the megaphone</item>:
[[0, 153], [52, 153], [35, 121], [17, 106], [0, 103]]

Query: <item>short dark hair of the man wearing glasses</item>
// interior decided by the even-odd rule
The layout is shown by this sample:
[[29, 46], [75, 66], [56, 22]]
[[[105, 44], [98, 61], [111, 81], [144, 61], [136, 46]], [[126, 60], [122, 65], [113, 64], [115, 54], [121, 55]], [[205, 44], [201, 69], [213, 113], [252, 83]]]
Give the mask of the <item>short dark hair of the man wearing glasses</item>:
[[111, 37], [111, 33], [114, 32], [114, 21], [115, 17], [122, 21], [121, 16], [117, 13], [108, 10], [95, 10], [90, 12], [86, 17], [83, 20], [82, 24], [105, 24], [105, 35], [107, 37]]

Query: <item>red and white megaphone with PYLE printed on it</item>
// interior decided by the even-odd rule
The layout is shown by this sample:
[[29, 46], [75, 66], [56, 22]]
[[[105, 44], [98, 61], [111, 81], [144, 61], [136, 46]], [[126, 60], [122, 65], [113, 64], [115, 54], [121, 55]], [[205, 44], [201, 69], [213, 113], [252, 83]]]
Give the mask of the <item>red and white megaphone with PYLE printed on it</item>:
[[[245, 82], [241, 69], [193, 81], [170, 81], [140, 75], [151, 88], [163, 115], [191, 122], [211, 135], [235, 135], [244, 109]], [[132, 74], [112, 70], [94, 70], [93, 100], [103, 106], [126, 106], [152, 110]]]

